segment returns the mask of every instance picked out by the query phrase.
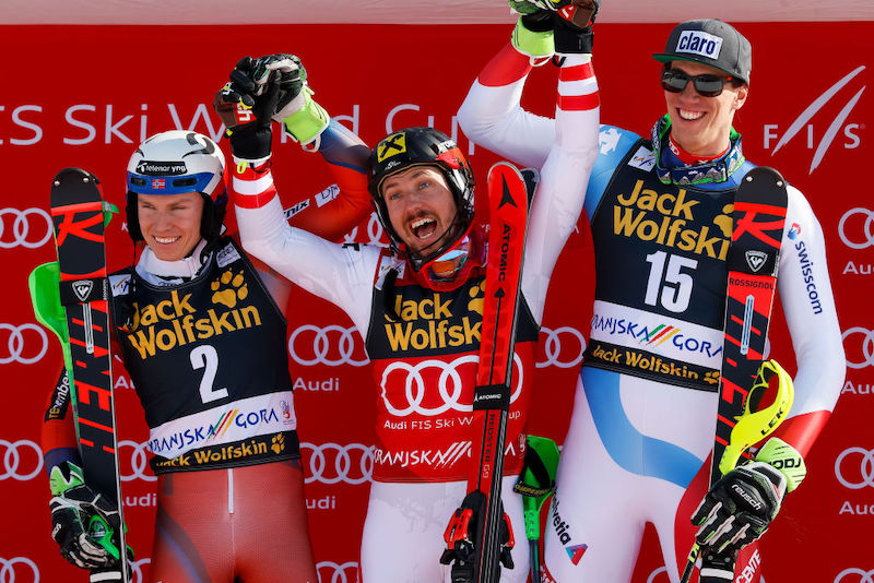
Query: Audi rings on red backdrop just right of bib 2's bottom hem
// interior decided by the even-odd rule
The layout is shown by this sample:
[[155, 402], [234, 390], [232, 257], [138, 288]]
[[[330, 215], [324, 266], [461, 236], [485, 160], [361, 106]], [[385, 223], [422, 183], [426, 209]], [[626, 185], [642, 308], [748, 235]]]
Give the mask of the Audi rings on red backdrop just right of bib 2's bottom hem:
[[[364, 484], [374, 472], [374, 448], [362, 443], [300, 443], [309, 451], [309, 472], [304, 481], [311, 484]], [[324, 581], [324, 580], [322, 580]]]

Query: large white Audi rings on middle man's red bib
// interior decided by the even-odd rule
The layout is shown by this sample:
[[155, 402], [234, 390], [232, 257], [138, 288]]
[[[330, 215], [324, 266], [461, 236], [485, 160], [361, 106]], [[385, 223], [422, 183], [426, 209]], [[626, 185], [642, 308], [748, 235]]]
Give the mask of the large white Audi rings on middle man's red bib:
[[[461, 356], [451, 362], [427, 359], [411, 365], [403, 360], [395, 360], [386, 367], [386, 370], [382, 371], [382, 379], [379, 381], [381, 389], [380, 394], [382, 396], [382, 402], [386, 404], [386, 409], [395, 417], [406, 417], [413, 413], [435, 416], [442, 415], [449, 409], [470, 413], [473, 411], [473, 403], [461, 402], [464, 382], [461, 380], [459, 369], [464, 365], [470, 365], [475, 371], [479, 361], [480, 359], [476, 355]], [[516, 385], [510, 395], [510, 403], [515, 402], [519, 396], [524, 381], [522, 361], [519, 359], [518, 354], [513, 354], [512, 361], [516, 367], [516, 374], [513, 374]], [[389, 384], [389, 376], [395, 371], [404, 376], [403, 395], [406, 403], [403, 403], [401, 406], [398, 406], [397, 403], [391, 403], [389, 396], [386, 394], [386, 386]], [[437, 371], [439, 371], [439, 376]], [[434, 394], [434, 386], [437, 388], [438, 394]], [[430, 390], [428, 391], [427, 389]], [[399, 395], [399, 393], [392, 394], [392, 397], [397, 395]], [[473, 393], [469, 393], [469, 396], [473, 398]]]

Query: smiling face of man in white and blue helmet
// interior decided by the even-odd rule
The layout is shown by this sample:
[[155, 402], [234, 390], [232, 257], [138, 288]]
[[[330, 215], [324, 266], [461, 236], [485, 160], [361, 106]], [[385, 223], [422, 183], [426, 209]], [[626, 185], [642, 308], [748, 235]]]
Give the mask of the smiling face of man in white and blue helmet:
[[200, 242], [203, 197], [185, 194], [138, 194], [140, 230], [155, 255], [164, 261], [187, 257]]

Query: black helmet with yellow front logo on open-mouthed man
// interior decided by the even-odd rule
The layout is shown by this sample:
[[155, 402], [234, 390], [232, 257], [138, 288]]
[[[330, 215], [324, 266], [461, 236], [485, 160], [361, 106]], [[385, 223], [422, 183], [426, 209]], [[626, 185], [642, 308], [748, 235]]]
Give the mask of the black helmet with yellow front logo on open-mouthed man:
[[[386, 178], [413, 166], [435, 166], [446, 178], [456, 201], [456, 222], [461, 228], [440, 249], [429, 253], [435, 257], [461, 237], [473, 221], [473, 170], [458, 144], [434, 128], [406, 128], [382, 140], [370, 152], [369, 185], [376, 214], [394, 249], [402, 249], [403, 240], [391, 226], [382, 182]], [[428, 258], [424, 258], [427, 261]]]

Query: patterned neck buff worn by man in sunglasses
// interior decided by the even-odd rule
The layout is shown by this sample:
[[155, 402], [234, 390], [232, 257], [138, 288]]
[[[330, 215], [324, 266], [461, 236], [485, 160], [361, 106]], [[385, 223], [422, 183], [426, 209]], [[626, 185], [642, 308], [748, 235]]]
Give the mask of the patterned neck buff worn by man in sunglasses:
[[719, 158], [704, 164], [693, 166], [662, 166], [662, 152], [668, 145], [669, 133], [671, 131], [671, 119], [662, 117], [652, 127], [652, 147], [656, 151], [656, 174], [665, 185], [674, 183], [678, 186], [702, 185], [705, 182], [724, 182], [734, 171], [741, 167], [744, 158], [741, 148], [741, 134], [734, 128], [731, 130], [731, 146]]

